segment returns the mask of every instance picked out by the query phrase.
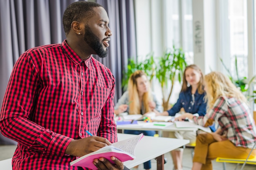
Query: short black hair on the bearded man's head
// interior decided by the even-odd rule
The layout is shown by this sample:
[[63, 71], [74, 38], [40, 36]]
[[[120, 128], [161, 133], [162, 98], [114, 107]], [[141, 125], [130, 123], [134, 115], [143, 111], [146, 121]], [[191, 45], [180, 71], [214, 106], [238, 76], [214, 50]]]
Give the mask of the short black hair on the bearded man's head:
[[83, 22], [92, 17], [94, 7], [102, 6], [98, 3], [87, 1], [78, 1], [67, 6], [62, 19], [65, 34], [67, 35], [70, 32], [73, 21]]

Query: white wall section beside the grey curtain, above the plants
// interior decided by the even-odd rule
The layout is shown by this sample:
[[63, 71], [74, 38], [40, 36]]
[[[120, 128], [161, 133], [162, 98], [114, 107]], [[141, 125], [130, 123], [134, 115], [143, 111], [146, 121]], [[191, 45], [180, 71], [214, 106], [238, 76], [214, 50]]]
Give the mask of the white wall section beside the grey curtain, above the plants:
[[163, 0], [135, 0], [135, 20], [138, 56], [150, 52], [162, 55], [163, 43]]

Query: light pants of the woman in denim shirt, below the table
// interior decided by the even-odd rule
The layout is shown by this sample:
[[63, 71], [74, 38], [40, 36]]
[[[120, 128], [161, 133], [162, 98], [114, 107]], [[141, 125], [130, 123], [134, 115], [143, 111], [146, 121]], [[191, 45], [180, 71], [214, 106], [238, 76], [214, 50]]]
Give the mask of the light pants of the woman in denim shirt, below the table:
[[[175, 132], [163, 132], [163, 137], [177, 138], [177, 139], [188, 139], [189, 144], [195, 143], [196, 132], [192, 131], [175, 131]], [[177, 151], [183, 151], [183, 148], [175, 149]]]

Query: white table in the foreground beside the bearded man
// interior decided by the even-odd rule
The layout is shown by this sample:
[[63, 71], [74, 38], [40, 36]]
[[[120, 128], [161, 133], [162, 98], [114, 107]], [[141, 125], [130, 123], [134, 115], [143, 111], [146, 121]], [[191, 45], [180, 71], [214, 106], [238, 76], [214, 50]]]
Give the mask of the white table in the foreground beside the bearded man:
[[[118, 140], [124, 140], [134, 135], [118, 133]], [[135, 148], [135, 159], [124, 162], [128, 168], [132, 168], [150, 159], [157, 160], [157, 170], [164, 170], [164, 154], [184, 146], [189, 140], [174, 139], [168, 137], [144, 136]]]

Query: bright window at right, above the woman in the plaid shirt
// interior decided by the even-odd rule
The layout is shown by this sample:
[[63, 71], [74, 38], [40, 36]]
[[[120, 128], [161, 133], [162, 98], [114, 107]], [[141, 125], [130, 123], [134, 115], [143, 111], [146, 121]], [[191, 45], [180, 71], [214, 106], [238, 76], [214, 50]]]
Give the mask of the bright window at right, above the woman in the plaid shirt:
[[[229, 68], [231, 75], [236, 78], [235, 58], [237, 57], [238, 76], [248, 77], [248, 40], [247, 40], [247, 1], [228, 0], [222, 3], [222, 13], [220, 22], [222, 59]], [[225, 53], [225, 50], [228, 50]], [[226, 64], [227, 63], [227, 64]]]

